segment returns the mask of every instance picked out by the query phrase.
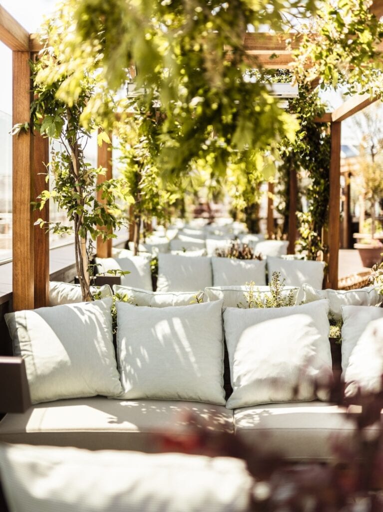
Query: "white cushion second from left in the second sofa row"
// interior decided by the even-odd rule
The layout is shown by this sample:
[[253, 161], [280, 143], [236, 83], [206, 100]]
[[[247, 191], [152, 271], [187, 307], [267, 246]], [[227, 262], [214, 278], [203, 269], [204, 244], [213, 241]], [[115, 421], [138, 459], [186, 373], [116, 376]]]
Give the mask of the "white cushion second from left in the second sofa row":
[[158, 291], [204, 290], [213, 285], [211, 259], [181, 254], [159, 254]]

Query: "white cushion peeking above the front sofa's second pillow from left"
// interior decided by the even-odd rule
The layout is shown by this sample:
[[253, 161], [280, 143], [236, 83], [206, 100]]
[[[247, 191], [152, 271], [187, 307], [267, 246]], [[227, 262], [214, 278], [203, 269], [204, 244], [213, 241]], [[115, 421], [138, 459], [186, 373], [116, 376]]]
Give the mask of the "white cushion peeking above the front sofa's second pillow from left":
[[147, 291], [140, 288], [114, 285], [113, 291], [129, 298], [133, 306], [150, 306], [152, 308], [166, 308], [168, 306], [188, 306], [204, 302], [203, 291]]

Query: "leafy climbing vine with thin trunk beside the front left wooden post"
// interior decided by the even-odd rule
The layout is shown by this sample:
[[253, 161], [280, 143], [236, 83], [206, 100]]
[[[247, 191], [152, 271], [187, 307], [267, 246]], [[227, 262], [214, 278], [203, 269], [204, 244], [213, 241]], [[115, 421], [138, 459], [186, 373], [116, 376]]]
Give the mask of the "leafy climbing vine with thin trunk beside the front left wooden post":
[[[119, 208], [115, 199], [117, 196], [126, 199], [129, 194], [122, 180], [111, 179], [97, 184], [98, 175], [104, 174], [105, 169], [92, 167], [84, 158], [87, 141], [92, 132], [99, 129], [94, 120], [89, 121], [86, 128], [81, 124], [81, 116], [89, 99], [96, 90], [102, 89], [96, 72], [97, 61], [87, 61], [83, 66], [81, 87], [74, 91], [71, 101], [65, 102], [58, 97], [57, 92], [62, 83], [76, 73], [75, 67], [62, 66], [66, 51], [63, 45], [64, 34], [70, 36], [72, 23], [71, 10], [62, 7], [56, 19], [50, 20], [43, 27], [44, 48], [33, 63], [34, 127], [41, 135], [59, 143], [59, 150], [52, 151], [52, 159], [47, 167], [48, 174], [53, 178], [52, 190], [44, 190], [40, 194], [36, 207], [42, 209], [52, 199], [59, 208], [66, 211], [70, 225], [47, 223], [41, 219], [38, 222], [42, 228], [47, 227], [48, 231], [54, 233], [74, 232], [76, 270], [85, 301], [92, 298], [92, 269], [89, 263], [93, 258], [93, 241], [98, 237], [105, 241], [116, 236], [112, 232], [122, 222], [117, 218]], [[108, 102], [111, 102], [111, 98], [105, 96], [105, 104]], [[109, 138], [101, 130], [99, 144], [102, 141], [109, 142]], [[99, 191], [103, 203], [96, 198]]]

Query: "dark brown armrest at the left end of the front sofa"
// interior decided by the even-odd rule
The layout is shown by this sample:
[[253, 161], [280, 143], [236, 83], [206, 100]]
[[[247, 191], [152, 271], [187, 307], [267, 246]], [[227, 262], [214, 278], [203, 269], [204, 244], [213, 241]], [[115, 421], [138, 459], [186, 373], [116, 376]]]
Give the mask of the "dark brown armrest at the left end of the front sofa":
[[24, 413], [30, 406], [24, 359], [0, 356], [0, 413]]

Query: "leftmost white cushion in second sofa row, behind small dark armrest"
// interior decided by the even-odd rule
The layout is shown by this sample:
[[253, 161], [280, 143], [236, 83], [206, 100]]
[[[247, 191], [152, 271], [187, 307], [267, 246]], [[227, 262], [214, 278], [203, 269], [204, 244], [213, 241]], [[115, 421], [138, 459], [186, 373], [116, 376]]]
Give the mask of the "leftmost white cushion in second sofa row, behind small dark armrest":
[[139, 254], [130, 258], [95, 258], [100, 272], [108, 270], [129, 271], [130, 274], [121, 276], [121, 284], [134, 286], [144, 290], [152, 290], [150, 270], [150, 254]]

